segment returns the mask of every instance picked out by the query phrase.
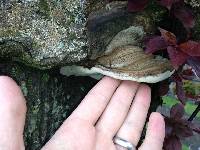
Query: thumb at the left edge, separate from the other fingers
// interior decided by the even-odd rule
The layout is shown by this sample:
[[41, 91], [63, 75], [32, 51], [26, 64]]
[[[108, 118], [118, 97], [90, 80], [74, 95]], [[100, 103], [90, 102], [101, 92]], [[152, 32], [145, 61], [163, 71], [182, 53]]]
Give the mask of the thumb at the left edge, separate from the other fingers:
[[0, 77], [0, 147], [24, 149], [26, 104], [20, 88], [9, 77]]

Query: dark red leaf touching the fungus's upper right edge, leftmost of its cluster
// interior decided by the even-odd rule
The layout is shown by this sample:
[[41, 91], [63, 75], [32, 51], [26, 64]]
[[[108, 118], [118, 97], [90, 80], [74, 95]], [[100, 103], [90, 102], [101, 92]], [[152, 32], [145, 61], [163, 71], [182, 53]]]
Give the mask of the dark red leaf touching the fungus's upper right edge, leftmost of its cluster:
[[146, 53], [154, 53], [158, 50], [166, 49], [167, 44], [161, 36], [156, 36], [146, 43]]

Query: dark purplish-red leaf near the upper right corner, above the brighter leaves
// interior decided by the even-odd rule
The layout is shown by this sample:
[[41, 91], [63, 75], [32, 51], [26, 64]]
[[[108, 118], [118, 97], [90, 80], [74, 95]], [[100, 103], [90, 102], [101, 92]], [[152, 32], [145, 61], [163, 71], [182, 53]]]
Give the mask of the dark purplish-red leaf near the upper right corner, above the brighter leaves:
[[185, 28], [193, 28], [195, 19], [192, 11], [185, 7], [176, 7], [173, 9], [173, 14], [178, 18], [184, 25]]

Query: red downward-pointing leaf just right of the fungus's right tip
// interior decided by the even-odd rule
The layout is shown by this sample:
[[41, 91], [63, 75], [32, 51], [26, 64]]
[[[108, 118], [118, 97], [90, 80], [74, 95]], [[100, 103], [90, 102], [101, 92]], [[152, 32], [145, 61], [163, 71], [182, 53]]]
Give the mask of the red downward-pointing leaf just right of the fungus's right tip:
[[172, 46], [167, 47], [167, 52], [169, 54], [170, 61], [175, 69], [178, 69], [178, 67], [185, 63], [185, 61], [189, 57], [187, 54], [177, 50]]

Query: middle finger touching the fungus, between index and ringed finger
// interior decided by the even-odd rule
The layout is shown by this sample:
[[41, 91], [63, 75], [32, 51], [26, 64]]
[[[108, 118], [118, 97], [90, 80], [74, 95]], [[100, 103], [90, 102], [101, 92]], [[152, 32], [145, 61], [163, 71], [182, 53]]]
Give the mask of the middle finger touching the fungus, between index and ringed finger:
[[121, 83], [96, 124], [97, 131], [113, 138], [127, 116], [138, 85], [132, 81]]

